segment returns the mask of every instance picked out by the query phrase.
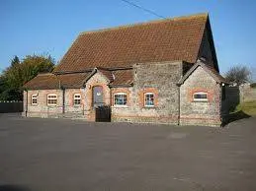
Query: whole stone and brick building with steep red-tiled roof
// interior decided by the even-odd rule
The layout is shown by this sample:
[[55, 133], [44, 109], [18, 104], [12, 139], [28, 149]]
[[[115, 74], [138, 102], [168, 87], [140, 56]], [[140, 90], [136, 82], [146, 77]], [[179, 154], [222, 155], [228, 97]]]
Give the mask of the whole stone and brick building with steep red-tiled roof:
[[219, 126], [225, 84], [208, 14], [81, 32], [24, 85], [24, 116]]

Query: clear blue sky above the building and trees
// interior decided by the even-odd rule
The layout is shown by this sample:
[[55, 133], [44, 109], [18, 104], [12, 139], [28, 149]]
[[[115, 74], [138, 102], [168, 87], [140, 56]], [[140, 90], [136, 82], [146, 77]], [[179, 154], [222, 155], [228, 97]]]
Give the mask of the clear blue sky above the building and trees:
[[[256, 71], [256, 1], [129, 0], [165, 18], [210, 14], [220, 73]], [[0, 71], [17, 55], [50, 54], [56, 62], [80, 32], [157, 20], [122, 0], [0, 0]]]

